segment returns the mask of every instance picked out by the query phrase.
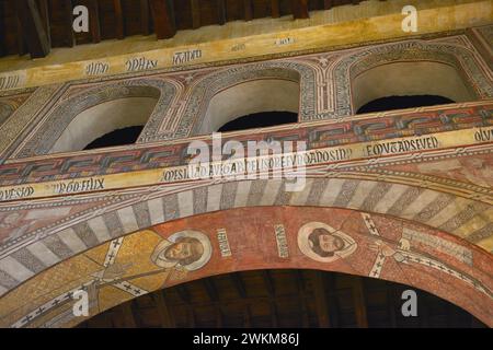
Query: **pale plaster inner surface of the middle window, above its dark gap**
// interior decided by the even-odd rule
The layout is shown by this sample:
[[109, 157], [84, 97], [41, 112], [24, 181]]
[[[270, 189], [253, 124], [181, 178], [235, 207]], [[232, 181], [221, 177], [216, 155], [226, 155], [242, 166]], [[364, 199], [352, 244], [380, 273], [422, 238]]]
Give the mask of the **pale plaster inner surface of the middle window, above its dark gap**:
[[199, 132], [217, 131], [239, 117], [261, 112], [299, 112], [299, 83], [280, 79], [244, 82], [217, 93], [209, 102]]

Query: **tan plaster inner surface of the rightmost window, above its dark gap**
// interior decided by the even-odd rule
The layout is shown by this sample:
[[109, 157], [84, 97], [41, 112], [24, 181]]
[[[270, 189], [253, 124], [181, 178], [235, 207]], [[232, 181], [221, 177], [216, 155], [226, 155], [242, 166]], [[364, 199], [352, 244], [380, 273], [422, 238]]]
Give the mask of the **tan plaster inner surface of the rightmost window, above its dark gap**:
[[388, 96], [438, 95], [473, 101], [454, 67], [439, 62], [395, 62], [372, 68], [353, 80], [354, 110]]

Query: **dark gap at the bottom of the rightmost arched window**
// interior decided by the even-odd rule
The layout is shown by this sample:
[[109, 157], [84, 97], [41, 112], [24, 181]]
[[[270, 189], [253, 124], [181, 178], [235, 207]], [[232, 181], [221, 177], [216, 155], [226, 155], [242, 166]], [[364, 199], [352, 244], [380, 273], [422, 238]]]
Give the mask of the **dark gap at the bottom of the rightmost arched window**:
[[454, 103], [454, 101], [436, 95], [389, 96], [374, 100], [362, 106], [356, 114], [385, 112], [393, 109], [436, 106]]

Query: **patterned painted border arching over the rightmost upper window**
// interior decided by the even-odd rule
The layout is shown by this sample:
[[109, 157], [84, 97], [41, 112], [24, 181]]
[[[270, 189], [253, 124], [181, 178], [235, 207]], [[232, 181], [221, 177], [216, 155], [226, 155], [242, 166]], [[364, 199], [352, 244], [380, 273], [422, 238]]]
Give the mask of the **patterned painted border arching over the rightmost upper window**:
[[[493, 85], [488, 79], [488, 69], [481, 66], [474, 54], [458, 45], [426, 43], [421, 40], [409, 40], [397, 44], [385, 44], [358, 52], [351, 52], [343, 56], [334, 67], [335, 95], [337, 115], [353, 115], [356, 113], [360, 101], [355, 101], [353, 82], [356, 77], [369, 74], [372, 69], [381, 70], [387, 65], [415, 63], [424, 65], [426, 70], [433, 65], [442, 70], [440, 74], [454, 73], [457, 86], [463, 100], [468, 95], [471, 100], [489, 98], [493, 96]], [[448, 68], [447, 68], [448, 67]], [[421, 74], [413, 68], [414, 75]], [[436, 75], [437, 72], [434, 72]], [[413, 77], [414, 79], [415, 77]], [[443, 79], [442, 79], [443, 80]], [[412, 86], [410, 93], [415, 94], [419, 85]], [[397, 93], [402, 93], [401, 89], [395, 89]], [[423, 92], [425, 94], [426, 91]]]

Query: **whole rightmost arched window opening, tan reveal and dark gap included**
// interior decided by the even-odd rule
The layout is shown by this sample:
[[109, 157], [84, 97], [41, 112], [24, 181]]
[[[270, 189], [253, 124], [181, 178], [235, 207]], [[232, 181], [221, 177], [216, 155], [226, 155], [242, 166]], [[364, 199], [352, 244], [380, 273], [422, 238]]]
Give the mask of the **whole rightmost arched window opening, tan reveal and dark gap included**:
[[473, 98], [455, 67], [431, 61], [394, 62], [363, 71], [353, 79], [352, 94], [353, 108], [357, 113]]

